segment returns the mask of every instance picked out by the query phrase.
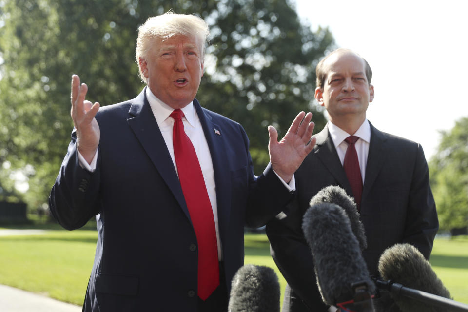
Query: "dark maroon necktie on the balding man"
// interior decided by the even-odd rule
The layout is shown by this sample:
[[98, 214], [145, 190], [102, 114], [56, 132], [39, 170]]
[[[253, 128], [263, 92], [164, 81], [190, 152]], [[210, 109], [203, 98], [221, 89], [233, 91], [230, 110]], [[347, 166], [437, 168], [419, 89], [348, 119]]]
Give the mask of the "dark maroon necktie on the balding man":
[[346, 149], [343, 167], [345, 168], [348, 181], [351, 184], [352, 194], [354, 195], [354, 200], [356, 201], [357, 209], [359, 210], [362, 195], [362, 177], [356, 148], [354, 147], [354, 143], [356, 143], [358, 139], [359, 137], [356, 136], [345, 138], [346, 143], [348, 143], [348, 148]]

